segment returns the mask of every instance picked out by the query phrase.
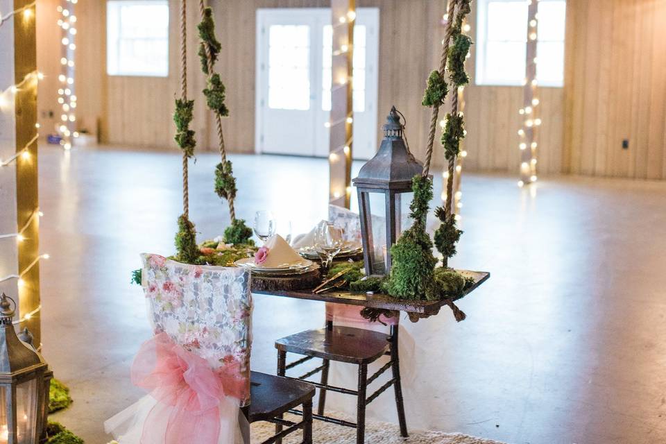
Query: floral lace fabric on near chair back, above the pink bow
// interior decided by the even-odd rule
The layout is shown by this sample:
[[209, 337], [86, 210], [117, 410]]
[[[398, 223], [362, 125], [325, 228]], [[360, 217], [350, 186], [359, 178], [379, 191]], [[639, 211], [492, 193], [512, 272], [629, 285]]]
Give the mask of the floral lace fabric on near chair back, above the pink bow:
[[[250, 401], [252, 294], [242, 268], [182, 264], [142, 255], [142, 286], [155, 333], [166, 332], [225, 379], [234, 398]], [[229, 387], [230, 388], [230, 387]]]

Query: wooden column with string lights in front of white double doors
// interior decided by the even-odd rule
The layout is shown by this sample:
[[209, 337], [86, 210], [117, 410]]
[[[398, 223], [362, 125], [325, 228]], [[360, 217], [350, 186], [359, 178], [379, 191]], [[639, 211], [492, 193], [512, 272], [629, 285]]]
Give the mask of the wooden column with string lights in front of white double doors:
[[354, 109], [352, 62], [354, 60], [355, 0], [332, 0], [333, 60], [329, 146], [329, 201], [350, 207]]

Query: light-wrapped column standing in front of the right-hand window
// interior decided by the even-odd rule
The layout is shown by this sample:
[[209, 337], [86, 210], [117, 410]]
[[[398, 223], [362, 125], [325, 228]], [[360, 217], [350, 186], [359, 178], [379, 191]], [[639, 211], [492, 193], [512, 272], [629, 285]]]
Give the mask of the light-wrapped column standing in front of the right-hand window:
[[523, 119], [522, 128], [518, 130], [520, 142], [520, 180], [518, 186], [523, 187], [537, 180], [537, 148], [538, 129], [541, 119], [538, 117], [538, 80], [536, 78], [538, 48], [538, 0], [529, 0], [527, 12], [527, 57], [525, 60], [525, 78], [523, 80], [523, 105], [518, 113]]

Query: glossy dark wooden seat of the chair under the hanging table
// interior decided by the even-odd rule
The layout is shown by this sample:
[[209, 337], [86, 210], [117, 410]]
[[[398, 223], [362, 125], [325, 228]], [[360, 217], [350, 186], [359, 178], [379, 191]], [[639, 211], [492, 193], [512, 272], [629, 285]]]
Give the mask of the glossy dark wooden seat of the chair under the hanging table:
[[319, 357], [350, 364], [370, 364], [389, 349], [389, 336], [353, 327], [333, 330], [306, 330], [275, 341], [275, 348], [284, 352]]

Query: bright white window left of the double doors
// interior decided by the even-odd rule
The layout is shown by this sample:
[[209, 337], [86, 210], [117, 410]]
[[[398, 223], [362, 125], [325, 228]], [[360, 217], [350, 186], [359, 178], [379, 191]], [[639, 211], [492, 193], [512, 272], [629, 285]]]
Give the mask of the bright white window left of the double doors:
[[110, 76], [169, 75], [169, 2], [110, 0], [106, 69]]

